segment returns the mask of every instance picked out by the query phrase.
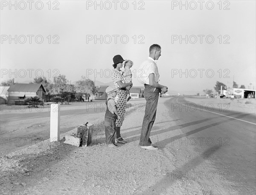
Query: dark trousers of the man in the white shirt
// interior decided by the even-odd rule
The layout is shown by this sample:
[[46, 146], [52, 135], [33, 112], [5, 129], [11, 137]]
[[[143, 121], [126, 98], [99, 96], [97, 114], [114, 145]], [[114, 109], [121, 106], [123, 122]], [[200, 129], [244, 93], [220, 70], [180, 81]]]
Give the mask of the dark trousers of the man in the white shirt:
[[[140, 134], [140, 146], [150, 146], [151, 141], [149, 138], [154, 120], [157, 114], [157, 103], [160, 90], [159, 88], [154, 88], [153, 86], [144, 84], [145, 89], [143, 95], [146, 99], [145, 115], [143, 118], [143, 124]], [[155, 90], [154, 90], [155, 89]]]

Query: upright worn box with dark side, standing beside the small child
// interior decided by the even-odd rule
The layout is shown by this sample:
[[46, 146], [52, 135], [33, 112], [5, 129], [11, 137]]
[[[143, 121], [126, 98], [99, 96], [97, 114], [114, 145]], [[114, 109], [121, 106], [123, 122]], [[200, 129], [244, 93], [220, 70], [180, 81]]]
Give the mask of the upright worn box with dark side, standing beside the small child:
[[92, 142], [93, 124], [77, 126], [77, 138], [81, 138], [80, 146], [88, 146]]

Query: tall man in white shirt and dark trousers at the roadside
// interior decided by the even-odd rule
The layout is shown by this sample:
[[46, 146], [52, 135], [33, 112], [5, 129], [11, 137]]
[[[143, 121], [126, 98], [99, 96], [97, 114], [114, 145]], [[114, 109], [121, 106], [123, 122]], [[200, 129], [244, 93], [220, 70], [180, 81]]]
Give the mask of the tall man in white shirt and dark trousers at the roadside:
[[151, 145], [149, 135], [156, 118], [159, 93], [166, 93], [168, 89], [167, 86], [158, 83], [160, 79], [155, 60], [158, 60], [160, 56], [161, 46], [157, 44], [151, 45], [149, 48], [148, 59], [140, 66], [140, 70], [143, 70], [143, 75], [138, 77], [138, 81], [145, 86], [143, 95], [146, 99], [145, 115], [143, 118], [139, 145], [141, 148], [148, 150], [158, 149]]

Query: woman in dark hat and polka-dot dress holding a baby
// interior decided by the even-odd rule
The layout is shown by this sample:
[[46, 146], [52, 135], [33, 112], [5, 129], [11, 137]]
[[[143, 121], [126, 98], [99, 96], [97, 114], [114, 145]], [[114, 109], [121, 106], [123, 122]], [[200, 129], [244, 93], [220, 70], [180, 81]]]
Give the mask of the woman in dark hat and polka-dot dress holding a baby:
[[114, 83], [114, 86], [117, 88], [117, 95], [115, 97], [115, 102], [117, 106], [117, 112], [120, 115], [120, 119], [116, 120], [116, 142], [117, 143], [126, 143], [121, 135], [120, 135], [120, 128], [122, 126], [122, 122], [125, 119], [125, 109], [126, 109], [126, 98], [127, 98], [127, 92], [126, 92], [126, 87], [129, 86], [131, 88], [132, 82], [125, 83], [125, 78], [123, 77], [121, 73], [121, 68], [123, 66], [123, 62], [125, 60], [122, 58], [121, 55], [115, 55], [113, 57], [113, 74], [112, 74], [112, 80]]

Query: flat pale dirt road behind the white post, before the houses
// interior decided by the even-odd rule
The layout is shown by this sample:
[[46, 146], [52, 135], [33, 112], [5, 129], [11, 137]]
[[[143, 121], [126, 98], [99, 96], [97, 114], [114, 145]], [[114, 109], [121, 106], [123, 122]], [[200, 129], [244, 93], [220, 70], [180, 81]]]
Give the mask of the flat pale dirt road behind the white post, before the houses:
[[[139, 103], [142, 100], [131, 100], [128, 105]], [[61, 105], [60, 113], [60, 133], [65, 133], [75, 129], [78, 124], [103, 120], [105, 102], [72, 102], [70, 105]], [[35, 143], [40, 144], [49, 138], [49, 106], [45, 106], [42, 110], [9, 106], [1, 110], [0, 115], [0, 157], [25, 149]]]

